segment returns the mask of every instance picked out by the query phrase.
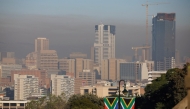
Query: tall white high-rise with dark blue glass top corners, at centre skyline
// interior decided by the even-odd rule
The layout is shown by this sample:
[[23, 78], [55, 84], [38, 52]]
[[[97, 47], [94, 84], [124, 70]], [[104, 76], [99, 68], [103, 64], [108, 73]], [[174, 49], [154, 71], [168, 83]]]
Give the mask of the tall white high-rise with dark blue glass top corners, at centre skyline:
[[115, 26], [95, 25], [94, 62], [115, 58]]

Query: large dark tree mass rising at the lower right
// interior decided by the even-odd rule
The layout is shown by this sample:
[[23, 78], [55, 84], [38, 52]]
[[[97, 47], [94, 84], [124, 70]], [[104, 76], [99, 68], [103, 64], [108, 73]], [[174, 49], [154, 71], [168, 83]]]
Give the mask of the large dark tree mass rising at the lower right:
[[174, 68], [145, 87], [144, 96], [136, 98], [137, 109], [171, 109], [186, 95], [184, 78], [187, 66]]

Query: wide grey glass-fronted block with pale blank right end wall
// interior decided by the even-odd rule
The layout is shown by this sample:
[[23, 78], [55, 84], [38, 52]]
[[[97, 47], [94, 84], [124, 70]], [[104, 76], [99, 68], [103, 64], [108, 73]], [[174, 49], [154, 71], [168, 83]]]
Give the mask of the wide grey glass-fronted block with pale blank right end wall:
[[148, 80], [147, 63], [125, 62], [120, 63], [120, 79], [133, 82]]

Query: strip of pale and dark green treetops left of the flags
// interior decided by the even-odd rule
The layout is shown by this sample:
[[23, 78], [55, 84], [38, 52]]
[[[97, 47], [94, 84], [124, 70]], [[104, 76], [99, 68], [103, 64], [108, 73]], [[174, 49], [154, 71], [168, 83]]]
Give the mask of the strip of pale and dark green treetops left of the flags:
[[73, 95], [66, 102], [64, 94], [49, 95], [27, 104], [26, 109], [103, 109], [103, 98], [96, 95]]

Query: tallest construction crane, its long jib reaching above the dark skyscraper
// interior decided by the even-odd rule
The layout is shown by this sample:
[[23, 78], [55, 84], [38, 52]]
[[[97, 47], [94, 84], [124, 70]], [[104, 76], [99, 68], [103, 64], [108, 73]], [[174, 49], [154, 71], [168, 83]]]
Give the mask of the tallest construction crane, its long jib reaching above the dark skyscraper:
[[148, 1], [147, 1], [147, 3], [146, 4], [142, 4], [142, 6], [146, 6], [146, 46], [148, 46], [149, 45], [149, 43], [148, 43], [148, 6], [149, 5], [160, 5], [160, 4], [168, 4], [168, 3], [148, 3]]

